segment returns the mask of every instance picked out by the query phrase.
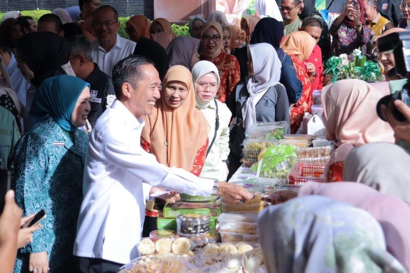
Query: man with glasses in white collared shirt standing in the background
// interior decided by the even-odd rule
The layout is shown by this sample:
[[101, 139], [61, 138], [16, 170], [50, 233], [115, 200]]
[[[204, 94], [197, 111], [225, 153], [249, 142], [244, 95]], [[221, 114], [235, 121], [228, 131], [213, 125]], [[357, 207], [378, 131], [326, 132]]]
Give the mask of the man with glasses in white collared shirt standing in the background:
[[118, 12], [111, 6], [100, 6], [94, 11], [93, 29], [97, 34], [91, 42], [93, 60], [111, 76], [115, 64], [134, 53], [136, 43], [117, 34]]

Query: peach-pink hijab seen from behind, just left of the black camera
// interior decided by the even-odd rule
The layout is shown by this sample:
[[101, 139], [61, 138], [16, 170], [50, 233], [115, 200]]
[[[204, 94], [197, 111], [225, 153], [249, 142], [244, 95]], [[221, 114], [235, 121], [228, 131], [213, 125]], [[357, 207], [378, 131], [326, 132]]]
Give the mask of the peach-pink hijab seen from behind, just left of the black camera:
[[336, 146], [359, 146], [370, 142], [394, 143], [393, 129], [376, 113], [382, 92], [363, 80], [344, 79], [322, 90], [326, 139]]

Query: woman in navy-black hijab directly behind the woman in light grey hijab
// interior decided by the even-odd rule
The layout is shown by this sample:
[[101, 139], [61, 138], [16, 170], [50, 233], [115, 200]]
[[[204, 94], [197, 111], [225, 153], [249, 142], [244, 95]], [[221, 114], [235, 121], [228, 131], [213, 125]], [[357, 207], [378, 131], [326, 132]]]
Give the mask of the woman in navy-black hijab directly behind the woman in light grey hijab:
[[[282, 63], [280, 83], [285, 87], [289, 103], [295, 103], [302, 95], [303, 86], [297, 77], [292, 59], [279, 47], [283, 37], [283, 24], [274, 18], [262, 18], [256, 24], [251, 38], [251, 45], [268, 43], [273, 46]], [[248, 75], [247, 47], [237, 49], [235, 56], [238, 58], [241, 79]]]

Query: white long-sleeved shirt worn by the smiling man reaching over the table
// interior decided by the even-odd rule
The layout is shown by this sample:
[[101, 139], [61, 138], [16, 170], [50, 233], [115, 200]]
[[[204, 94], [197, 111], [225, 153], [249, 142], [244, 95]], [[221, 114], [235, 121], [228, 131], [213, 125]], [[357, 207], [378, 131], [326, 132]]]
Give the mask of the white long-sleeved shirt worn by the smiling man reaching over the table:
[[212, 180], [159, 164], [141, 148], [144, 124], [118, 100], [95, 123], [86, 156], [74, 255], [124, 264], [137, 258], [150, 185], [211, 195]]

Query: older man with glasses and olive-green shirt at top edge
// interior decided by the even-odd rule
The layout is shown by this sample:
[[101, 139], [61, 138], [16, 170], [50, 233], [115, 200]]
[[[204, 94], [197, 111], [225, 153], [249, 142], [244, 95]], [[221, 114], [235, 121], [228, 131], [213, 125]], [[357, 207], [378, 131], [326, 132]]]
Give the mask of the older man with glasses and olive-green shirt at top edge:
[[300, 0], [282, 0], [280, 4], [284, 23], [283, 35], [285, 36], [298, 31], [302, 25], [302, 20], [298, 16], [298, 12], [301, 10], [300, 3]]

